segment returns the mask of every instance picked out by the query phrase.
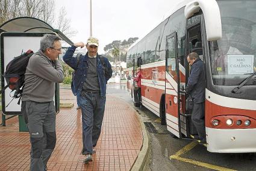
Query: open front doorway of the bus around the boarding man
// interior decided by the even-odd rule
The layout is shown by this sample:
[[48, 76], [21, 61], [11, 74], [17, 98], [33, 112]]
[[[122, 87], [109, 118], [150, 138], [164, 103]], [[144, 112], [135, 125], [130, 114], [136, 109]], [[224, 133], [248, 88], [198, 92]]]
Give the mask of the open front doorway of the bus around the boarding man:
[[[203, 59], [202, 55], [202, 39], [201, 39], [201, 14], [197, 16], [190, 17], [190, 19], [187, 20], [187, 37], [186, 37], [186, 58], [185, 61], [185, 69], [186, 69], [186, 85], [187, 81], [190, 75], [190, 66], [189, 63], [187, 63], [187, 55], [191, 52], [196, 52], [199, 57]], [[186, 86], [184, 86], [183, 91]], [[189, 95], [186, 94], [186, 92], [183, 92], [188, 98]], [[186, 99], [183, 99], [183, 104], [186, 104]], [[196, 128], [192, 123], [192, 110], [186, 110], [185, 105], [183, 105], [184, 109], [182, 110], [183, 113], [181, 113], [181, 122], [184, 125], [184, 128], [186, 127], [186, 131], [183, 132], [185, 137], [190, 138], [190, 135], [197, 134]]]

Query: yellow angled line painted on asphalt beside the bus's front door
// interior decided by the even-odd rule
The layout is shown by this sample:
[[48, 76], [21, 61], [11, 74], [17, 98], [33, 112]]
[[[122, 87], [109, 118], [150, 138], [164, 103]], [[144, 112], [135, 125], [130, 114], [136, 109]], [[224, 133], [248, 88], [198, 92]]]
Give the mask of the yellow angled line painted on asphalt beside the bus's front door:
[[226, 167], [220, 167], [220, 166], [216, 166], [216, 165], [213, 165], [213, 164], [203, 163], [203, 162], [200, 162], [200, 161], [191, 160], [189, 158], [182, 158], [182, 157], [180, 157], [180, 155], [190, 151], [196, 145], [198, 145], [198, 141], [192, 141], [191, 143], [189, 143], [189, 145], [187, 145], [184, 148], [180, 149], [174, 155], [171, 155], [170, 156], [170, 160], [173, 160], [173, 159], [180, 160], [180, 161], [183, 161], [183, 162], [186, 162], [186, 163], [195, 164], [197, 166], [202, 166], [202, 167], [206, 167], [206, 168], [214, 169], [214, 170], [227, 170], [227, 171], [233, 170], [233, 169], [228, 169]]

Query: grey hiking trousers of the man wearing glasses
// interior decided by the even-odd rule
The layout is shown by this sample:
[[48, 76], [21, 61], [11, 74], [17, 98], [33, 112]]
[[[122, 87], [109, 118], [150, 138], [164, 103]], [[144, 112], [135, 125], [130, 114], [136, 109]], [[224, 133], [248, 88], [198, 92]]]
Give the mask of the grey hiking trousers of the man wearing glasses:
[[30, 170], [45, 170], [56, 144], [54, 101], [23, 101], [22, 115], [30, 132]]

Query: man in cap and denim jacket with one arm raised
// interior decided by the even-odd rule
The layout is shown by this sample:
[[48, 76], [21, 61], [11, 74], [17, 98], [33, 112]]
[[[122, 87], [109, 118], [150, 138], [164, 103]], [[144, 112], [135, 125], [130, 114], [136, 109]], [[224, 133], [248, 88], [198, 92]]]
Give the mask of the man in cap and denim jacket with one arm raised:
[[80, 92], [80, 105], [83, 123], [84, 163], [92, 161], [92, 154], [101, 134], [101, 125], [106, 102], [106, 84], [111, 78], [112, 69], [107, 58], [98, 55], [98, 39], [87, 40], [86, 55], [72, 57], [75, 49], [84, 47], [83, 42], [75, 43], [63, 56], [63, 60], [75, 70], [72, 91]]

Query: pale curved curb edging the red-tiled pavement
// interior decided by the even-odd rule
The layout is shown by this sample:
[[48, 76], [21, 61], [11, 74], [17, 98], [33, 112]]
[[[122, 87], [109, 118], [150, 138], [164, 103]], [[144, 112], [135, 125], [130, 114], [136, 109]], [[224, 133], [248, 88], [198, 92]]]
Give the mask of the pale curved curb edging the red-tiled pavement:
[[[138, 114], [137, 111], [136, 111], [136, 113]], [[133, 166], [131, 166], [130, 171], [145, 170], [145, 168], [150, 163], [151, 148], [149, 146], [148, 133], [146, 132], [144, 122], [142, 121], [141, 116], [139, 116], [139, 114], [138, 114], [138, 117], [140, 119], [140, 125], [142, 126], [143, 144], [142, 144], [142, 148], [136, 158], [136, 161], [134, 162]]]

